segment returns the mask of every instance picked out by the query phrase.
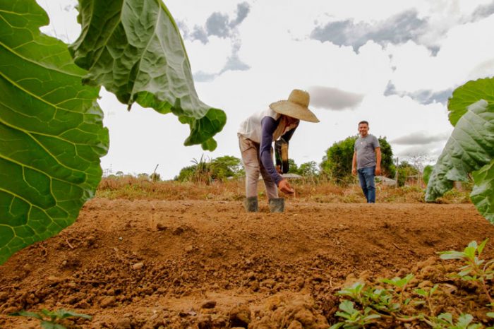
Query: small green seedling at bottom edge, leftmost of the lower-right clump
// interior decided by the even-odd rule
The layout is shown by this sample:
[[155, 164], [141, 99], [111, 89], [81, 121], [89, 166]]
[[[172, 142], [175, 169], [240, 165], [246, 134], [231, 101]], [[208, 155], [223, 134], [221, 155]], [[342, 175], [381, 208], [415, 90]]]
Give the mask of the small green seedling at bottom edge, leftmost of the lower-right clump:
[[379, 314], [372, 313], [373, 310], [370, 307], [366, 307], [363, 311], [355, 309], [353, 301], [342, 301], [339, 304], [339, 309], [341, 312], [336, 312], [336, 315], [344, 318], [343, 322], [335, 323], [330, 329], [358, 329], [366, 328], [366, 325], [375, 323]]

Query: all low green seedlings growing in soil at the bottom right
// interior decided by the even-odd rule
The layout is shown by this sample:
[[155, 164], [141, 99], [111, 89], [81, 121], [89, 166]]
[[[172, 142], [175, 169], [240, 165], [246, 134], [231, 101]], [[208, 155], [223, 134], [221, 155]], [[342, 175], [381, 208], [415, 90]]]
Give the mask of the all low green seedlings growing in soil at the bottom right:
[[[490, 301], [488, 306], [494, 307], [486, 285], [486, 281], [493, 280], [494, 277], [494, 260], [485, 261], [481, 258], [486, 244], [487, 239], [480, 245], [471, 241], [464, 251], [443, 251], [440, 252], [440, 258], [463, 261], [464, 265], [459, 268], [456, 277], [479, 283]], [[440, 286], [436, 284], [433, 287], [420, 287], [418, 284], [418, 287], [411, 289], [412, 280], [414, 275], [409, 274], [405, 277], [381, 279], [380, 282], [387, 285], [385, 287], [355, 282], [342, 288], [337, 292], [338, 296], [344, 298], [339, 304], [341, 311], [335, 313], [342, 320], [331, 328], [402, 328], [403, 324], [407, 328], [422, 328], [417, 326], [418, 322], [436, 329], [484, 328], [481, 323], [474, 323], [474, 317], [468, 313], [462, 313], [456, 319], [451, 313], [438, 315], [438, 308], [433, 306], [433, 294]], [[440, 292], [442, 296], [445, 294], [444, 291]], [[424, 304], [428, 311], [421, 306]], [[494, 312], [488, 312], [486, 316], [494, 318]]]

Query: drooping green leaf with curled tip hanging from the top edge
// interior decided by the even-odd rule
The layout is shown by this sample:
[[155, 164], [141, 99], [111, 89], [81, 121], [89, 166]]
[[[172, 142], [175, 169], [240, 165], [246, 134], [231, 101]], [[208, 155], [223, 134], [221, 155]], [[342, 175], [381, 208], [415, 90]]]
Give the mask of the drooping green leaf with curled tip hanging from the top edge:
[[201, 102], [178, 28], [161, 0], [79, 0], [82, 32], [71, 44], [84, 82], [104, 85], [128, 104], [172, 112], [191, 126], [185, 145], [212, 140], [227, 117]]

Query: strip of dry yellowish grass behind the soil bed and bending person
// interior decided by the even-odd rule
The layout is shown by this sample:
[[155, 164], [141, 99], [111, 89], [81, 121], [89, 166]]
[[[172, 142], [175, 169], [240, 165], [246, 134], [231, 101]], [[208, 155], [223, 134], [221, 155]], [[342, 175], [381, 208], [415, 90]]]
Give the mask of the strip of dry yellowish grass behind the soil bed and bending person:
[[[178, 181], [152, 182], [135, 177], [102, 179], [96, 196], [101, 198], [123, 198], [128, 200], [214, 200], [241, 201], [244, 197], [243, 180], [213, 181], [211, 184], [181, 183]], [[298, 179], [291, 181], [296, 193], [291, 198], [318, 203], [363, 203], [360, 186], [338, 186], [330, 181]], [[395, 188], [378, 184], [378, 203], [423, 203], [425, 195], [421, 186]], [[438, 203], [469, 203], [470, 191], [453, 189], [438, 199]], [[259, 184], [260, 198], [266, 198], [262, 181]]]

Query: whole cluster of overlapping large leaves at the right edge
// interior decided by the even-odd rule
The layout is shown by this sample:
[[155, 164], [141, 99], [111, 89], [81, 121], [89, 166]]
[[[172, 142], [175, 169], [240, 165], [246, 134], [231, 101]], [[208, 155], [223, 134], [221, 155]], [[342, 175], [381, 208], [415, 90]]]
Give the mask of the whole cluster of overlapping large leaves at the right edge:
[[454, 130], [430, 174], [426, 201], [435, 201], [454, 181], [468, 181], [472, 174], [472, 202], [494, 223], [494, 78], [454, 90], [448, 109]]

